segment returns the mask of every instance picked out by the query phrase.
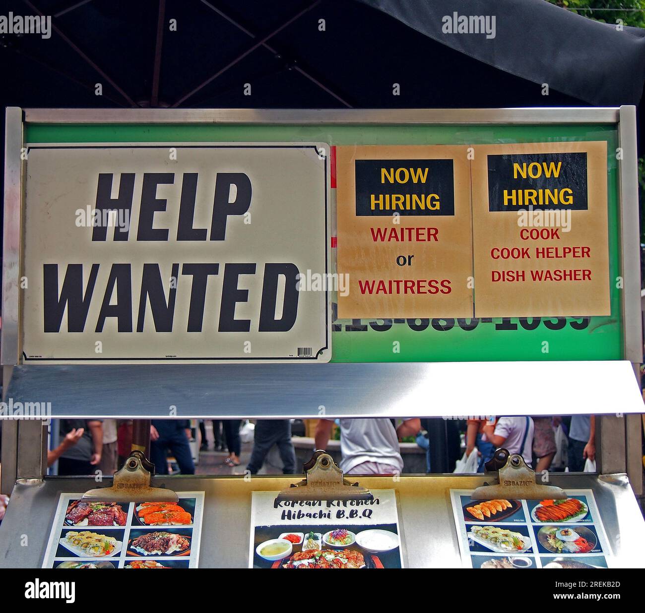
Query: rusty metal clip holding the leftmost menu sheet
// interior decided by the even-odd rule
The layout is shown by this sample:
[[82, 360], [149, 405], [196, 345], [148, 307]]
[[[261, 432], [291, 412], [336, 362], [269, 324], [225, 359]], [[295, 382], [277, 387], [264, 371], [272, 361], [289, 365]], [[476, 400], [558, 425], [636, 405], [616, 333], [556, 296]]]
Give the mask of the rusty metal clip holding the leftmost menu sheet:
[[90, 489], [81, 502], [179, 502], [172, 489], [150, 486], [154, 471], [154, 464], [142, 451], [133, 451], [123, 468], [114, 473], [112, 486]]

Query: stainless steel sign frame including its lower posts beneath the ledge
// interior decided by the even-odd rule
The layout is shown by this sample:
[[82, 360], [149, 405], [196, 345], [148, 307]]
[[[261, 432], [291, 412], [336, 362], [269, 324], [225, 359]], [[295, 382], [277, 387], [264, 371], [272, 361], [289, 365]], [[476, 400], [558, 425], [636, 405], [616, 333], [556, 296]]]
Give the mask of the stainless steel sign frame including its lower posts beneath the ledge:
[[[605, 124], [617, 128], [620, 270], [624, 290], [621, 311], [623, 318], [623, 359], [633, 364], [638, 375], [642, 362], [642, 319], [640, 312], [640, 235], [637, 169], [636, 108], [515, 108], [515, 109], [6, 109], [5, 133], [5, 194], [3, 247], [3, 326], [0, 363], [3, 364], [5, 390], [12, 370], [19, 362], [21, 344], [20, 274], [23, 258], [23, 217], [25, 196], [26, 124]], [[342, 366], [342, 364], [337, 364]], [[41, 367], [48, 368], [48, 367]], [[119, 366], [103, 366], [108, 370]], [[324, 368], [324, 366], [323, 366]], [[615, 410], [620, 411], [620, 407]], [[266, 415], [271, 417], [271, 415]], [[640, 471], [640, 419], [638, 415], [603, 417], [599, 435], [603, 472], [630, 473]], [[633, 423], [632, 423], [633, 422]], [[20, 430], [18, 425], [20, 423]], [[36, 428], [37, 424], [37, 428]], [[11, 449], [17, 455], [16, 466], [5, 464], [3, 486], [15, 476], [37, 477], [44, 474], [43, 429], [40, 422], [5, 422], [3, 441], [6, 458]], [[28, 434], [31, 433], [31, 434]], [[39, 435], [43, 447], [28, 452], [28, 438]], [[19, 442], [23, 442], [19, 445]], [[34, 439], [30, 440], [34, 448]], [[25, 456], [22, 460], [21, 457]], [[20, 469], [21, 464], [25, 470]], [[7, 474], [8, 473], [8, 474]], [[639, 472], [640, 474], [640, 472]], [[640, 480], [639, 480], [640, 481]], [[6, 487], [3, 487], [6, 490]]]

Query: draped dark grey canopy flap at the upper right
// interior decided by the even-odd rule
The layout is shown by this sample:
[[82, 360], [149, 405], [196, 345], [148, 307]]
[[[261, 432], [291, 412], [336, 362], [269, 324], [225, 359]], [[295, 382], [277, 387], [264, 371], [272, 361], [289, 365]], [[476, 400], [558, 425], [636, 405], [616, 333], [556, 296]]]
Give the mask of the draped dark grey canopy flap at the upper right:
[[[593, 106], [638, 104], [642, 95], [645, 30], [640, 28], [618, 30], [544, 0], [358, 1], [460, 53]], [[443, 18], [452, 22], [455, 12], [495, 16], [495, 37], [445, 33]]]

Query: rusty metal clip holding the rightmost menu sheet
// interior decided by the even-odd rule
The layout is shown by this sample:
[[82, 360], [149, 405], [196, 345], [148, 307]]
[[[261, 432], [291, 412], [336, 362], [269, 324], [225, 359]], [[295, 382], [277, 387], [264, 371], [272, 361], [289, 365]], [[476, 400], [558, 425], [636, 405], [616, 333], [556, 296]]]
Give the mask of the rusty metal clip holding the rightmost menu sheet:
[[497, 470], [497, 484], [477, 487], [470, 495], [473, 500], [496, 500], [524, 498], [524, 500], [541, 500], [542, 498], [558, 500], [567, 495], [561, 487], [546, 486], [535, 481], [535, 471], [526, 466], [521, 455], [508, 453], [506, 449], [497, 449], [493, 458], [486, 462], [486, 470]]

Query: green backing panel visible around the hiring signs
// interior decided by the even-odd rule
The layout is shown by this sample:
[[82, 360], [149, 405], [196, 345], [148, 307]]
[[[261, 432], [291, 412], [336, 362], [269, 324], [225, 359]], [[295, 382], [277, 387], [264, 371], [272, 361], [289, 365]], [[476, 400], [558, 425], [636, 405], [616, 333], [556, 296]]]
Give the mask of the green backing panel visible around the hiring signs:
[[[383, 319], [333, 322], [332, 361], [536, 361], [622, 359], [617, 131], [615, 126], [389, 126], [333, 124], [46, 125], [28, 124], [28, 143], [326, 142], [349, 145], [477, 145], [607, 142], [611, 315], [503, 319]], [[476, 292], [476, 288], [475, 288]], [[334, 310], [335, 314], [335, 310]], [[476, 368], [476, 366], [475, 366]], [[518, 371], [530, 379], [531, 373]], [[467, 373], [466, 373], [467, 375]], [[564, 376], [564, 373], [563, 373]]]

